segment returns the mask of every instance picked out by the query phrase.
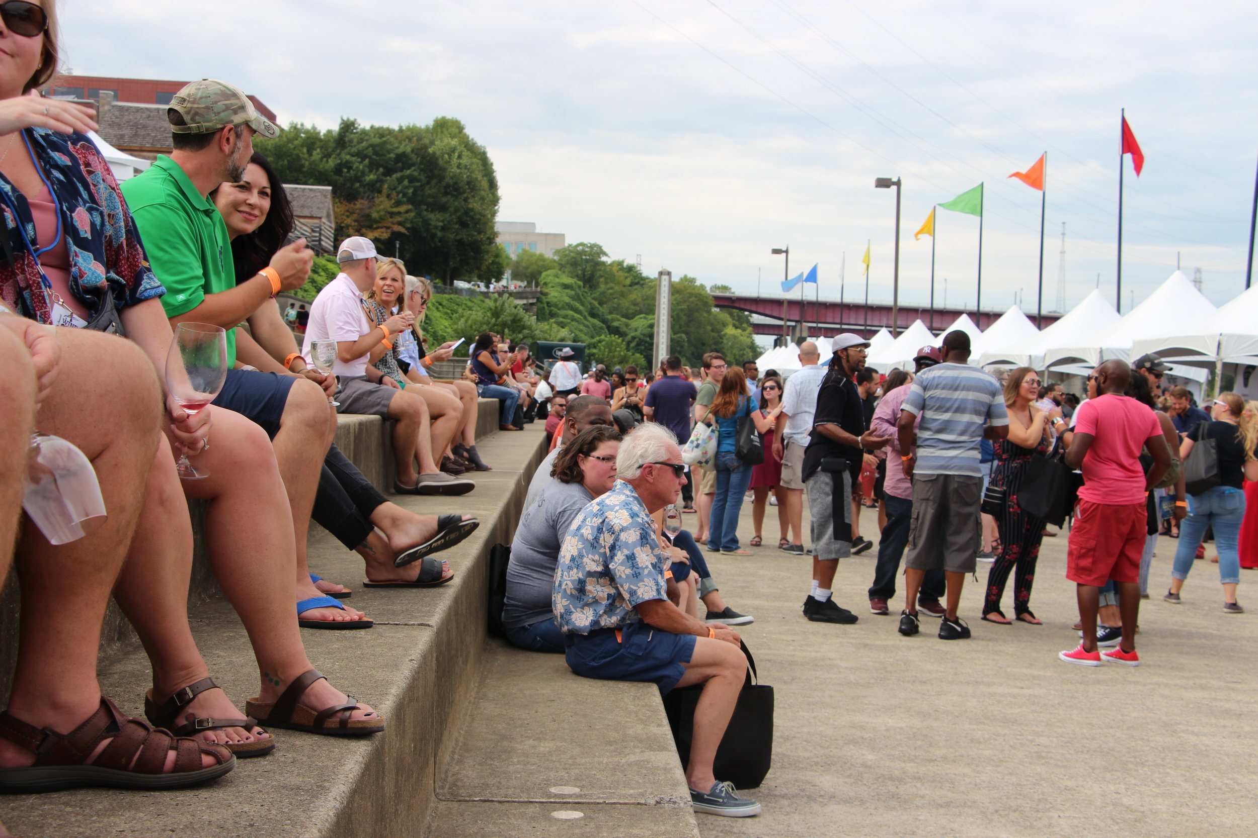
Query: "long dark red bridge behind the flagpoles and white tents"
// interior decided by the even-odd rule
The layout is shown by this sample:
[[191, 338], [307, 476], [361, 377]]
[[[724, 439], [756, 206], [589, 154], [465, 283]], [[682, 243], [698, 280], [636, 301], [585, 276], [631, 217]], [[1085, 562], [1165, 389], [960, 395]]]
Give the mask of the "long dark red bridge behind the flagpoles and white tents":
[[[717, 308], [732, 308], [747, 314], [771, 318], [776, 323], [755, 323], [752, 329], [756, 334], [794, 334], [800, 324], [808, 327], [808, 334], [816, 337], [834, 337], [840, 332], [855, 332], [863, 337], [872, 337], [878, 329], [886, 328], [894, 334], [899, 334], [913, 320], [921, 319], [931, 330], [945, 329], [952, 320], [969, 314], [977, 327], [986, 330], [996, 319], [1004, 314], [1000, 312], [979, 312], [961, 308], [940, 308], [933, 310], [928, 307], [901, 304], [897, 312], [897, 323], [892, 327], [891, 305], [883, 303], [871, 303], [868, 308], [860, 302], [849, 303], [847, 300], [804, 300], [799, 298], [781, 297], [751, 297], [746, 294], [712, 294], [712, 302]], [[1028, 314], [1032, 323], [1035, 314]], [[1047, 328], [1058, 320], [1060, 314], [1044, 314], [1040, 328]]]

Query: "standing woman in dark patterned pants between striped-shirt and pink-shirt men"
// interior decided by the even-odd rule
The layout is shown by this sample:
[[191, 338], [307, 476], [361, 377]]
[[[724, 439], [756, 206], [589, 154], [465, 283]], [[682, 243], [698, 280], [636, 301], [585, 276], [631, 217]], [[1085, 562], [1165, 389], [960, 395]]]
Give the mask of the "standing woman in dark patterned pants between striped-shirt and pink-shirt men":
[[[1035, 580], [1035, 560], [1044, 538], [1044, 520], [1034, 518], [1018, 505], [1018, 489], [1027, 477], [1027, 467], [1037, 454], [1049, 449], [1048, 426], [1060, 422], [1062, 412], [1039, 410], [1039, 376], [1030, 367], [1018, 367], [1005, 382], [1005, 408], [1009, 411], [1009, 437], [996, 442], [996, 465], [991, 470], [991, 486], [1004, 489], [1004, 510], [996, 518], [1000, 531], [1000, 553], [988, 573], [988, 592], [982, 601], [982, 619], [1008, 626], [1013, 621], [1000, 611], [1005, 583], [1014, 572], [1014, 618], [1032, 626], [1040, 621], [1030, 609], [1030, 588]], [[1064, 426], [1062, 426], [1064, 427]]]

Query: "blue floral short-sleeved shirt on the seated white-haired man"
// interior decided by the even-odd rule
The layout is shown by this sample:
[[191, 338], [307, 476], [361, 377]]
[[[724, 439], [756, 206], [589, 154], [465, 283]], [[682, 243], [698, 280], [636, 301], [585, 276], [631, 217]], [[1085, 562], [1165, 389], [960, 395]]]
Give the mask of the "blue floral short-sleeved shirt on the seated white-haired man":
[[638, 492], [616, 480], [577, 514], [559, 550], [551, 608], [560, 629], [589, 634], [639, 622], [638, 603], [667, 597], [669, 560]]

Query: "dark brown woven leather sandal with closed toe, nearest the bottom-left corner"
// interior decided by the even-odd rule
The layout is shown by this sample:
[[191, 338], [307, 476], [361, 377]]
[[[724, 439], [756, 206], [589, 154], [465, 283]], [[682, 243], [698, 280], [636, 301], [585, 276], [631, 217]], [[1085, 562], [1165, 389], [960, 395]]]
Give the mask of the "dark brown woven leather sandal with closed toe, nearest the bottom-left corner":
[[[108, 699], [69, 734], [39, 729], [0, 712], [0, 737], [35, 754], [26, 768], [0, 769], [0, 792], [29, 794], [60, 792], [84, 785], [114, 789], [179, 789], [223, 776], [235, 768], [235, 756], [221, 745], [171, 736], [141, 719], [130, 719]], [[97, 758], [87, 764], [102, 741], [112, 739]], [[164, 774], [166, 755], [175, 751], [170, 774]], [[218, 765], [201, 768], [201, 756], [213, 756]]]

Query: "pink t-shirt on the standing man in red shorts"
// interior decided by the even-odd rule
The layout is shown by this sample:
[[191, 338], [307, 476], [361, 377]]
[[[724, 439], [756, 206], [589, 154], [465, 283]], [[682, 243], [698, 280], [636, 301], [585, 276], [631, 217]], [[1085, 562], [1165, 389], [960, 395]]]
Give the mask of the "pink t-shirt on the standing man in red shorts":
[[1079, 405], [1076, 417], [1074, 431], [1092, 435], [1079, 498], [1113, 506], [1142, 503], [1140, 449], [1145, 440], [1162, 435], [1154, 411], [1135, 398], [1108, 393]]

